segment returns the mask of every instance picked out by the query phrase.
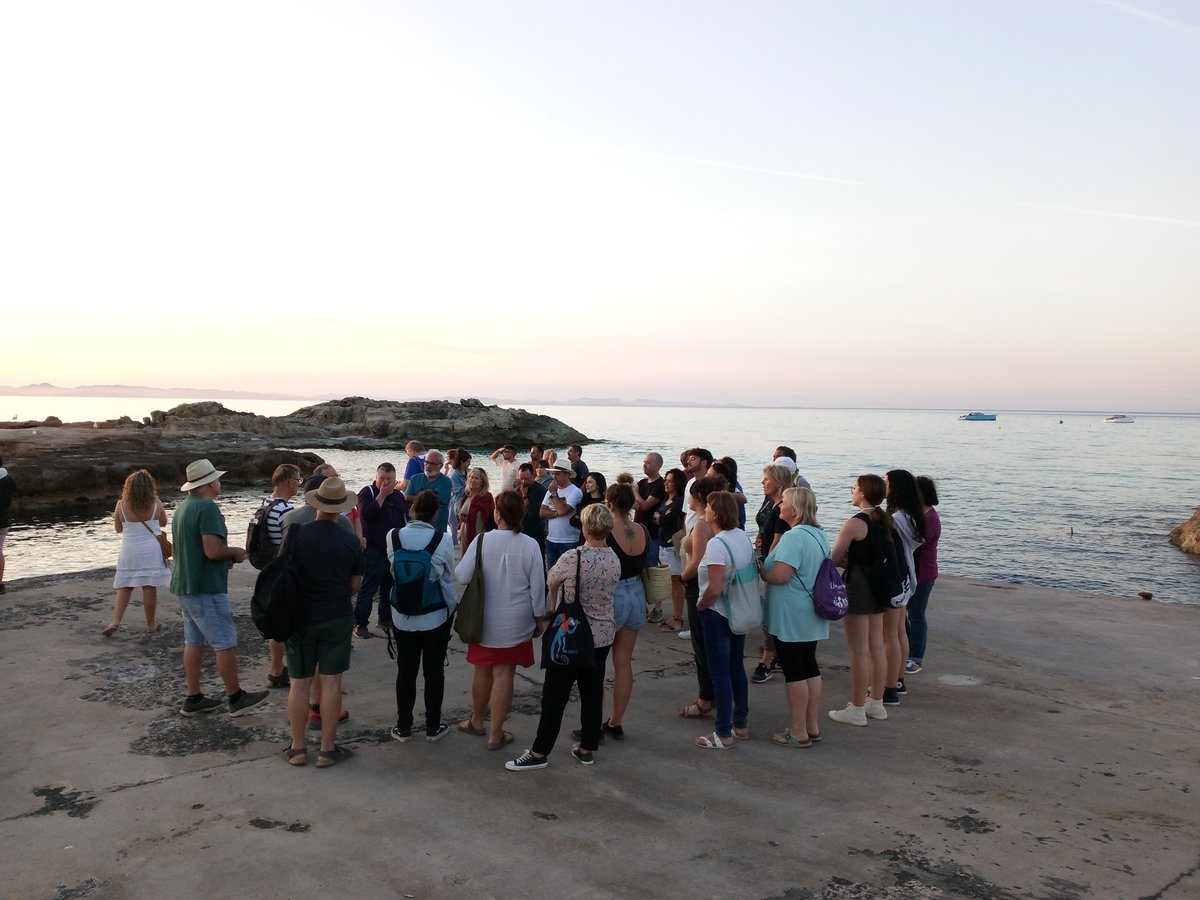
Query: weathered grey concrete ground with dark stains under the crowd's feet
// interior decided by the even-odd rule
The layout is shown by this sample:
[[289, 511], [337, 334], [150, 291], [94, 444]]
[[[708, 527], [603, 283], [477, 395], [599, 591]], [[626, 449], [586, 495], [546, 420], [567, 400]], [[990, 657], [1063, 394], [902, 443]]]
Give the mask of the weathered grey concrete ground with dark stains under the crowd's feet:
[[[244, 683], [262, 686], [252, 576], [238, 566], [232, 589]], [[482, 738], [390, 740], [394, 664], [359, 641], [341, 730], [355, 756], [317, 769], [280, 755], [286, 691], [236, 720], [179, 716], [174, 599], [157, 634], [134, 601], [106, 640], [110, 583], [18, 581], [0, 602], [5, 898], [1200, 896], [1198, 607], [943, 577], [902, 704], [866, 728], [826, 720], [809, 750], [769, 740], [781, 677], [750, 686], [751, 740], [692, 748], [703, 722], [676, 715], [690, 647], [650, 626], [628, 738], [583, 768], [564, 724], [529, 773]], [[469, 667], [451, 648], [452, 722]], [[840, 626], [818, 659], [840, 707]], [[512, 751], [540, 680], [518, 676]]]

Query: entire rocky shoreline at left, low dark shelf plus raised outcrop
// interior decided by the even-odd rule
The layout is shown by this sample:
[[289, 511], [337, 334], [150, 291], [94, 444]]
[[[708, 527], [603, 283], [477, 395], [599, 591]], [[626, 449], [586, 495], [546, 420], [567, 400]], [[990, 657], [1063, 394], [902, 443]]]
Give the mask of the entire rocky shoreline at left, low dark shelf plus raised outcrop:
[[18, 476], [16, 512], [67, 504], [108, 502], [134, 468], [160, 485], [181, 484], [187, 463], [217, 457], [226, 484], [262, 485], [281, 463], [311, 469], [322, 457], [299, 448], [400, 449], [427, 446], [491, 450], [503, 443], [552, 446], [582, 444], [587, 436], [558, 419], [486, 406], [478, 400], [402, 403], [346, 397], [304, 407], [289, 415], [239, 413], [220, 403], [182, 403], [140, 422], [128, 416], [103, 422], [4, 422], [0, 456]]

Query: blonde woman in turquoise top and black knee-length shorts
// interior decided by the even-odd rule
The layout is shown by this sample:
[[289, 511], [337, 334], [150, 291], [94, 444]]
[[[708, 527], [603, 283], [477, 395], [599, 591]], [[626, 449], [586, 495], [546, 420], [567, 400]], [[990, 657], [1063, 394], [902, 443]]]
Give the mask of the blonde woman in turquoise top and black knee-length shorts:
[[791, 526], [762, 564], [767, 582], [766, 624], [787, 682], [791, 725], [772, 740], [781, 746], [812, 746], [821, 739], [821, 670], [817, 641], [829, 637], [829, 622], [812, 608], [812, 584], [829, 540], [817, 523], [817, 498], [808, 487], [784, 491], [780, 518]]

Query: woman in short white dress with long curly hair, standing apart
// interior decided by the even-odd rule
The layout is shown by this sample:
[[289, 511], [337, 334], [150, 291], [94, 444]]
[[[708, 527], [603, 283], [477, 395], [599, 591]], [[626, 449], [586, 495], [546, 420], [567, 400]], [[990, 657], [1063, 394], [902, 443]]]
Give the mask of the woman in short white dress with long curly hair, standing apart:
[[125, 479], [121, 499], [113, 510], [113, 527], [121, 535], [121, 553], [116, 558], [116, 577], [113, 578], [116, 606], [113, 620], [101, 631], [104, 637], [112, 637], [121, 626], [133, 588], [142, 588], [146, 632], [158, 630], [155, 618], [158, 586], [170, 578], [170, 569], [158, 544], [158, 535], [166, 524], [167, 510], [158, 499], [154, 476], [145, 469], [138, 469]]

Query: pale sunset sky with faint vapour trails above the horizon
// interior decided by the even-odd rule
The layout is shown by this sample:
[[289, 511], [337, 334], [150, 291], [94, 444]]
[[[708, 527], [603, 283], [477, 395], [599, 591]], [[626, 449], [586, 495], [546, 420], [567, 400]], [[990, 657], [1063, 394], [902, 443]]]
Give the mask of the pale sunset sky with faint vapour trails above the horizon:
[[0, 2], [0, 385], [1200, 412], [1192, 0]]

